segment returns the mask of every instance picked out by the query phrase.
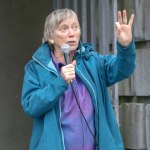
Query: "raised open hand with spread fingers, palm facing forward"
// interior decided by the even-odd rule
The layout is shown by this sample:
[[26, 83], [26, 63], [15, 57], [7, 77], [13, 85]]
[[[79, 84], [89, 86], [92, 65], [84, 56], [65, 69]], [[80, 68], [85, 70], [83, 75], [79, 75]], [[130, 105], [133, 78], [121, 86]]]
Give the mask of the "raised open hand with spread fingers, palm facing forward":
[[127, 22], [126, 10], [118, 11], [118, 22], [116, 22], [116, 36], [118, 42], [122, 46], [128, 46], [132, 41], [132, 24], [134, 20], [134, 14], [131, 15], [129, 23]]

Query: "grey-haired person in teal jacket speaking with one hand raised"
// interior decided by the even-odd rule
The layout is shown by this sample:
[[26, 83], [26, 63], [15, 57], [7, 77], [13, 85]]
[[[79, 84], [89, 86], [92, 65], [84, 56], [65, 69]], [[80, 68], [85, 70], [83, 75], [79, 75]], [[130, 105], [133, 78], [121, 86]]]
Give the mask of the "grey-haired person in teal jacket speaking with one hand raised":
[[22, 107], [34, 120], [30, 150], [124, 150], [107, 87], [134, 71], [133, 19], [127, 23], [126, 11], [118, 12], [118, 53], [102, 56], [80, 41], [75, 12], [48, 15], [43, 44], [25, 66]]

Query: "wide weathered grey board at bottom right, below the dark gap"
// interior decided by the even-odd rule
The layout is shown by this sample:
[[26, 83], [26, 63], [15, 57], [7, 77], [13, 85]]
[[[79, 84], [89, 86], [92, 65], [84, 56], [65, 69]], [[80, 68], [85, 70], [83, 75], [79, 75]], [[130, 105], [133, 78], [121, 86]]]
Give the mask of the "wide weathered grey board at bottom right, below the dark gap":
[[146, 150], [146, 111], [144, 103], [122, 104], [123, 139], [126, 149]]

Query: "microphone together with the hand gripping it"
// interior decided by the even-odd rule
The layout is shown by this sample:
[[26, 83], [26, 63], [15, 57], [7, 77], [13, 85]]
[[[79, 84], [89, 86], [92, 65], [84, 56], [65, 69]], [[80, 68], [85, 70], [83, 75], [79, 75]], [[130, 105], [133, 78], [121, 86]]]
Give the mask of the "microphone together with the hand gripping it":
[[66, 66], [61, 68], [61, 76], [67, 81], [69, 84], [73, 79], [75, 79], [75, 66], [76, 61], [74, 60], [72, 63], [70, 61], [70, 46], [64, 44], [61, 47], [61, 51], [64, 54]]

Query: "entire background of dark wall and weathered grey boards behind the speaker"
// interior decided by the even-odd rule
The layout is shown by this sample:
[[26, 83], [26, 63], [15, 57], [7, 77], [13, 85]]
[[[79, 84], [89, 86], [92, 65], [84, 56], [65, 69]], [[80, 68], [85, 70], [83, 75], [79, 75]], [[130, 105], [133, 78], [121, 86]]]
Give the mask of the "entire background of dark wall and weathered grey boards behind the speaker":
[[149, 0], [0, 0], [0, 150], [27, 150], [32, 120], [21, 107], [24, 65], [41, 45], [46, 16], [71, 8], [81, 24], [82, 42], [105, 54], [116, 53], [117, 10], [135, 14], [133, 37], [137, 68], [110, 87], [126, 149], [150, 150], [150, 1]]

